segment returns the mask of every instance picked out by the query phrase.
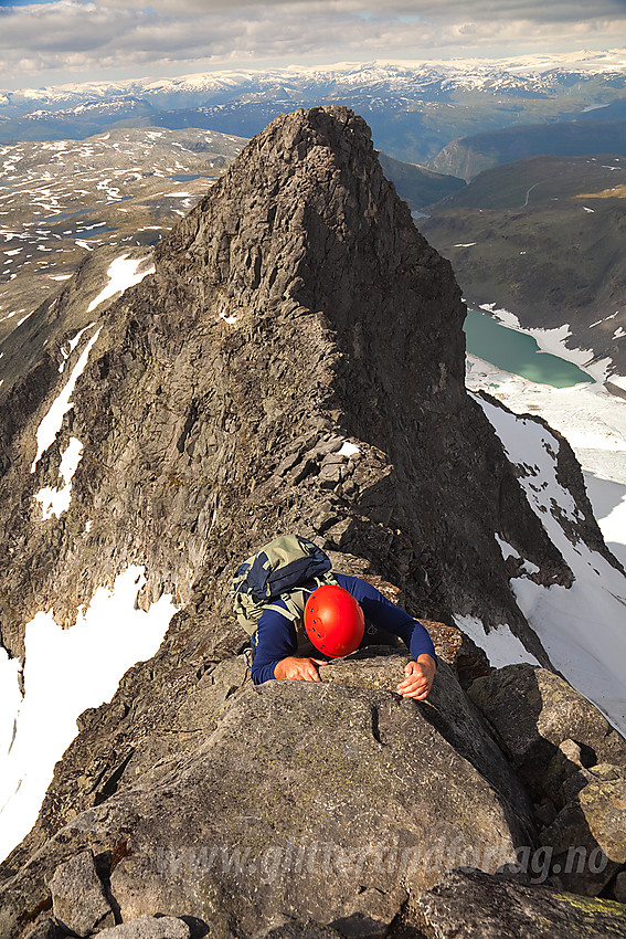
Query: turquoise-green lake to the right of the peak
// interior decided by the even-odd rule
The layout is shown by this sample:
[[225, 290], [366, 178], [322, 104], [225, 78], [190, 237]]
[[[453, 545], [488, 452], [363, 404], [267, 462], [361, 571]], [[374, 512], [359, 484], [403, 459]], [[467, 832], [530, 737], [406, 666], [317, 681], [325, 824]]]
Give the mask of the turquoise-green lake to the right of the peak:
[[464, 329], [467, 351], [503, 371], [553, 388], [593, 381], [573, 362], [542, 352], [532, 336], [509, 329], [486, 313], [468, 309]]

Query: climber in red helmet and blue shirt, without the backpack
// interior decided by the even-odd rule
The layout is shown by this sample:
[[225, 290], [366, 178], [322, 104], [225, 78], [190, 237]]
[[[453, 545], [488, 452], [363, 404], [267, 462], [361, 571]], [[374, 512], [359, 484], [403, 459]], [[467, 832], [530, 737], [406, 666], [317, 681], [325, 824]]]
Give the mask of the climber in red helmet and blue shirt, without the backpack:
[[[372, 635], [378, 634], [378, 642], [384, 643], [382, 631], [399, 636], [412, 655], [397, 693], [417, 700], [426, 698], [437, 660], [424, 626], [367, 581], [342, 573], [335, 573], [335, 585], [322, 584], [309, 593], [299, 621], [289, 616], [280, 599], [263, 611], [252, 643], [253, 682], [319, 682], [318, 669], [328, 665], [329, 657], [349, 655], [360, 645], [371, 644]], [[319, 653], [326, 657], [317, 657]]]

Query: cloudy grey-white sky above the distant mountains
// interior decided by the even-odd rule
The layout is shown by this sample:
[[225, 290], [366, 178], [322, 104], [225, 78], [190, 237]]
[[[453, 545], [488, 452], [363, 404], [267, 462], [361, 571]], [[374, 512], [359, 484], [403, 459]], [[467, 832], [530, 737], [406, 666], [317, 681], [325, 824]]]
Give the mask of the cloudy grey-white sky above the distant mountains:
[[0, 0], [0, 87], [626, 45], [626, 0]]

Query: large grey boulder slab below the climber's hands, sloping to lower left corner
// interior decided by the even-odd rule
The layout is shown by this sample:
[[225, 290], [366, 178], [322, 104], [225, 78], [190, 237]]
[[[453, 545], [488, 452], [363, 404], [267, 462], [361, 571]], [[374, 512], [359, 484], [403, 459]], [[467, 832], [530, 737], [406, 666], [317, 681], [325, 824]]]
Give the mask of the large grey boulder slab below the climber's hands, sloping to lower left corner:
[[[277, 910], [389, 926], [446, 871], [511, 861], [532, 843], [523, 790], [449, 666], [427, 701], [391, 690], [405, 662], [364, 650], [327, 666], [333, 680], [231, 695], [204, 739], [79, 813], [2, 887], [0, 933], [18, 936], [47, 872], [86, 847], [110, 854], [124, 921], [184, 914], [224, 939]], [[215, 684], [237, 669], [225, 661]]]

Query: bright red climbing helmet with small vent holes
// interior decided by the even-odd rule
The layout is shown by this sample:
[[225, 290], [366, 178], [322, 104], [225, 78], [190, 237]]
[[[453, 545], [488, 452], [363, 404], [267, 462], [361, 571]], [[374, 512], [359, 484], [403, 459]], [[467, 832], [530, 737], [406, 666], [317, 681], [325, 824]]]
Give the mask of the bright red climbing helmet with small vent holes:
[[316, 648], [338, 658], [359, 647], [365, 618], [351, 593], [342, 587], [325, 583], [307, 600], [305, 630]]

